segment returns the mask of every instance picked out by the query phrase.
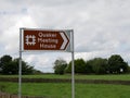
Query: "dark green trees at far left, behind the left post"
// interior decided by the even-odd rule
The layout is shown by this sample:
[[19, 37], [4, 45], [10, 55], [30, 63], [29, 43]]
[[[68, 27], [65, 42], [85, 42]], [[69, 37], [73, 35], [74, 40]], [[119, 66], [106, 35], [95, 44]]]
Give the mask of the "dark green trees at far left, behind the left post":
[[[18, 74], [18, 59], [12, 60], [11, 56], [3, 56], [0, 59], [1, 74]], [[22, 74], [32, 74], [34, 68], [22, 61]]]

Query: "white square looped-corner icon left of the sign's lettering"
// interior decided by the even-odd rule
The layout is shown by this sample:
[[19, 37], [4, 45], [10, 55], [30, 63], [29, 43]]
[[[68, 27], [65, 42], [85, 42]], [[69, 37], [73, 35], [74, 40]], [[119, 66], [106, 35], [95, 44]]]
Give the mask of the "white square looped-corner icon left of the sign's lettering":
[[26, 35], [26, 42], [27, 46], [35, 46], [36, 45], [36, 36], [35, 35]]

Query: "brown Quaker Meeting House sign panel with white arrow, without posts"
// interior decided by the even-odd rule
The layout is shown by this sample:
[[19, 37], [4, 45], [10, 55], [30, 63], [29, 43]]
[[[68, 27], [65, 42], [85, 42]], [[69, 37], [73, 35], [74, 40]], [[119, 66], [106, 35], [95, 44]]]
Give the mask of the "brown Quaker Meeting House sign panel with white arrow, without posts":
[[69, 38], [65, 30], [24, 29], [23, 50], [67, 50]]

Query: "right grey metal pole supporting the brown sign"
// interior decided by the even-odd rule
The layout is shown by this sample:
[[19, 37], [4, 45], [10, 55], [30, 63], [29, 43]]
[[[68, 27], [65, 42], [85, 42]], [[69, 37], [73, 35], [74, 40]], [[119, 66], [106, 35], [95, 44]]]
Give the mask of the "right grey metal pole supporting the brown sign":
[[72, 30], [72, 98], [75, 98], [74, 30]]

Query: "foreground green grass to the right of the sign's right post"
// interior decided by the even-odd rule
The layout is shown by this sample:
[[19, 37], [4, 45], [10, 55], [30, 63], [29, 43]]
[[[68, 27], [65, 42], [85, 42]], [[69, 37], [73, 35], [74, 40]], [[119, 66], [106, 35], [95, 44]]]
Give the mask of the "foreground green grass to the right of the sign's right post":
[[130, 86], [78, 84], [76, 88], [77, 98], [130, 98]]

